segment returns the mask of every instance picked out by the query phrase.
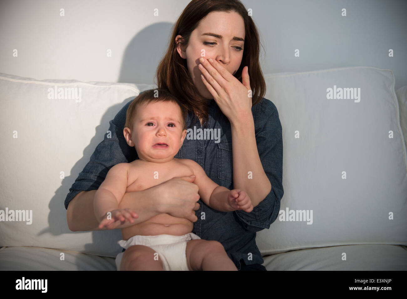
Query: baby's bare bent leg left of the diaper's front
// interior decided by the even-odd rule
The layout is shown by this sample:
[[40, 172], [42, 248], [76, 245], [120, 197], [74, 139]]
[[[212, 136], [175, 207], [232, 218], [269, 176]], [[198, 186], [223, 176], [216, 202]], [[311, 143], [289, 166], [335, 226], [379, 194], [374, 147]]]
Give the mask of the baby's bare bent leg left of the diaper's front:
[[162, 271], [160, 259], [154, 259], [155, 250], [144, 245], [133, 245], [125, 250], [120, 271]]

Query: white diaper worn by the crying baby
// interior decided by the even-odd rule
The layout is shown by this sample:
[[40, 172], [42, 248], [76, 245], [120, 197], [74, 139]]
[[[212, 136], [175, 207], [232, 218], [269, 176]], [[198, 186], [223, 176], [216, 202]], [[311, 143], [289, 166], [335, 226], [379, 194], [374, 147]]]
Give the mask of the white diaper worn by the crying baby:
[[[186, 242], [199, 240], [193, 233], [183, 236], [158, 235], [158, 236], [133, 236], [129, 240], [120, 240], [118, 244], [127, 249], [133, 245], [144, 245], [158, 253], [165, 271], [189, 271], [186, 262]], [[120, 263], [124, 252], [116, 256], [116, 268], [120, 271]]]

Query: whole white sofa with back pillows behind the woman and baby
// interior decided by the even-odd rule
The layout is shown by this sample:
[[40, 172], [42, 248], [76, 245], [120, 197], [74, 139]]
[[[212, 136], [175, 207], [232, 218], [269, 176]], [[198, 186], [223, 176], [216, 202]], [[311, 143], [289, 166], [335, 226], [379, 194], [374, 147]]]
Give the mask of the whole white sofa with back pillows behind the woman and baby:
[[[372, 67], [265, 77], [284, 148], [280, 216], [256, 238], [267, 270], [407, 270], [407, 86]], [[0, 270], [116, 270], [120, 230], [72, 232], [63, 202], [109, 120], [155, 87], [0, 73]]]

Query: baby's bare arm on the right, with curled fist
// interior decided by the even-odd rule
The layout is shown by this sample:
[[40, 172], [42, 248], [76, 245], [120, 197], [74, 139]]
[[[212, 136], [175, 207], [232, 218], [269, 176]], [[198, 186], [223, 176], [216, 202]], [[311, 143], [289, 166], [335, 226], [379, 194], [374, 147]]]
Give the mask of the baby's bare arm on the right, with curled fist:
[[194, 183], [198, 185], [198, 193], [204, 203], [212, 209], [221, 212], [236, 210], [252, 212], [252, 201], [246, 192], [236, 189], [229, 190], [219, 186], [206, 175], [205, 170], [197, 162], [189, 159], [184, 161], [190, 166], [196, 176]]

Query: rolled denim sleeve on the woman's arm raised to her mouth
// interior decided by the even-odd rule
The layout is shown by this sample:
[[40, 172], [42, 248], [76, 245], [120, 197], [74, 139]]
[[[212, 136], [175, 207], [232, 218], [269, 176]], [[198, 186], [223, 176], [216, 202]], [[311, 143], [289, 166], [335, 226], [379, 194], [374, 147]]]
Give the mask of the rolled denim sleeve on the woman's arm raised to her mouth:
[[282, 186], [282, 127], [277, 108], [266, 98], [253, 108], [257, 150], [263, 169], [271, 183], [271, 191], [252, 212], [238, 210], [235, 213], [245, 229], [257, 232], [268, 229], [277, 219], [284, 189]]

